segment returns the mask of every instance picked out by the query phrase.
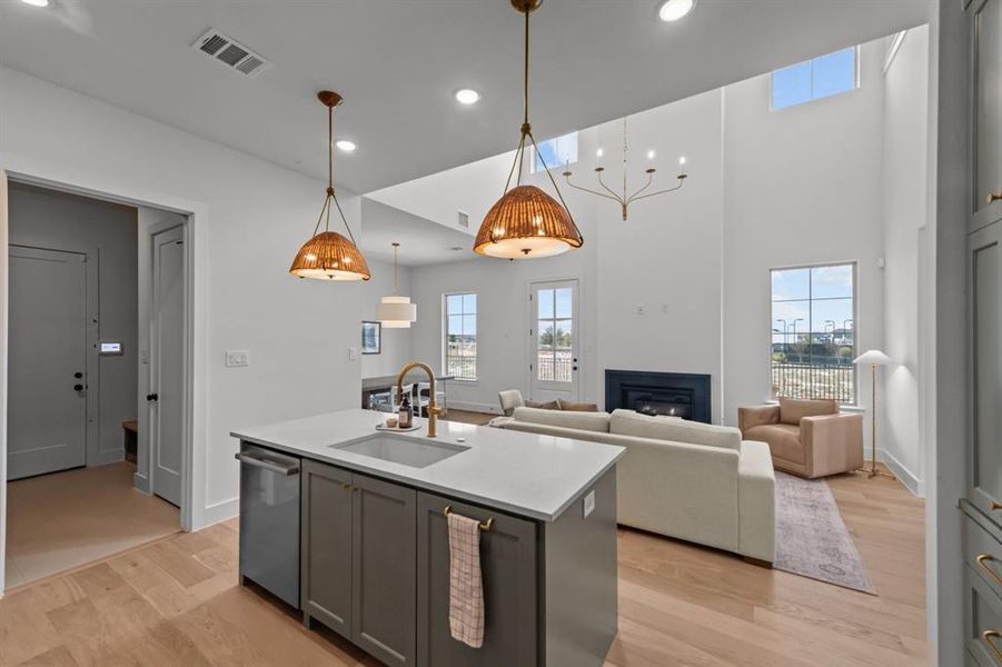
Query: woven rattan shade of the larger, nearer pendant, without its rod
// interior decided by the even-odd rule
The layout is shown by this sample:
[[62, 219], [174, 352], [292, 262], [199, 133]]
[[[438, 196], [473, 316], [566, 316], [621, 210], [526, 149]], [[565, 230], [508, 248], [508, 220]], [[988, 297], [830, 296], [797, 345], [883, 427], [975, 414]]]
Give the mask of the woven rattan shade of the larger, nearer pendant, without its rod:
[[487, 211], [474, 251], [506, 259], [538, 258], [581, 248], [583, 242], [567, 209], [536, 186], [518, 186]]

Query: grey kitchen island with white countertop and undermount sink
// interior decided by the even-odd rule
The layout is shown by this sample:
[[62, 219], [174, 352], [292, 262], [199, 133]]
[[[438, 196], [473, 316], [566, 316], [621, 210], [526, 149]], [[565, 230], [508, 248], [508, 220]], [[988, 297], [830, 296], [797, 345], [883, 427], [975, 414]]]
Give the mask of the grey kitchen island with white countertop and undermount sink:
[[[450, 421], [437, 438], [377, 431], [383, 418], [345, 410], [231, 434], [241, 577], [388, 665], [602, 665], [617, 629], [623, 448]], [[449, 633], [449, 511], [482, 522], [480, 648]]]

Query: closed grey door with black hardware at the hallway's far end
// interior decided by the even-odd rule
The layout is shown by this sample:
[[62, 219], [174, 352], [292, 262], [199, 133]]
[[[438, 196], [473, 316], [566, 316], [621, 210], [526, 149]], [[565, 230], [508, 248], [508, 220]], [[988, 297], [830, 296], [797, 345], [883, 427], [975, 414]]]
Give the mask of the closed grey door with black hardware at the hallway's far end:
[[8, 479], [87, 462], [86, 259], [10, 246]]

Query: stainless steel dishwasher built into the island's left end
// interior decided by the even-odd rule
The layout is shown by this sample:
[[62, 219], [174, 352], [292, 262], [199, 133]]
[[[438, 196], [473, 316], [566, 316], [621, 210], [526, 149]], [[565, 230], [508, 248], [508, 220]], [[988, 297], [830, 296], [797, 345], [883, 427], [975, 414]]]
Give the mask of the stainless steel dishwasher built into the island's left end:
[[240, 577], [299, 608], [299, 459], [240, 442]]

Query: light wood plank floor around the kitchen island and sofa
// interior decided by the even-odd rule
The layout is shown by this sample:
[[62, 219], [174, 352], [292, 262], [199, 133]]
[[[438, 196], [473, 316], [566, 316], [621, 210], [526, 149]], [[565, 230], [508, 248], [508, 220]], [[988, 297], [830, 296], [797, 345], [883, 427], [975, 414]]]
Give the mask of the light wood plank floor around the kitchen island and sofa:
[[[879, 596], [641, 532], [619, 535], [609, 667], [924, 665], [922, 502], [896, 481], [831, 487]], [[237, 584], [234, 521], [0, 600], [0, 666], [378, 665]]]

